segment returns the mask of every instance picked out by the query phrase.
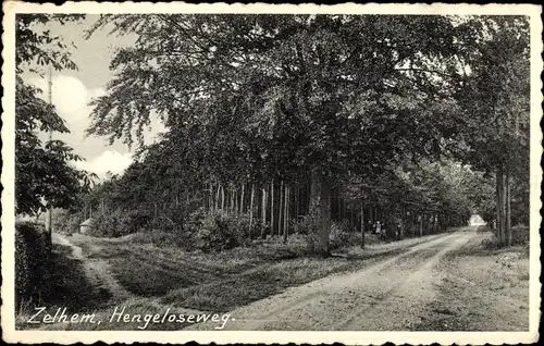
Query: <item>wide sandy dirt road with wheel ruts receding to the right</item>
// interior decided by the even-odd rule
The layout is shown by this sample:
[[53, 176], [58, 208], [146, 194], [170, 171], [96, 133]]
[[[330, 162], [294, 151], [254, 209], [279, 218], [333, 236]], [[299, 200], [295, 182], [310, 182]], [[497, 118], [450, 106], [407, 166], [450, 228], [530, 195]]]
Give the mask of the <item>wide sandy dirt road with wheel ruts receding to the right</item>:
[[[441, 258], [472, 237], [466, 227], [362, 270], [292, 287], [232, 311], [226, 330], [408, 331], [429, 316]], [[212, 330], [207, 323], [191, 329]]]

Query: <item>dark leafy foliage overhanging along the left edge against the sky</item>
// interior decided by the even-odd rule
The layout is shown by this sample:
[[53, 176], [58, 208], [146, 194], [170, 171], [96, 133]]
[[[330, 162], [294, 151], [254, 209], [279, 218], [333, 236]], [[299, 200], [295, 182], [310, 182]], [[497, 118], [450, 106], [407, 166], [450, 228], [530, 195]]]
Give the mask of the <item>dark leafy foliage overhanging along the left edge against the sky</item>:
[[[76, 17], [71, 17], [72, 20]], [[38, 32], [37, 23], [51, 20], [64, 22], [63, 16], [40, 14], [17, 15], [16, 71], [39, 65], [54, 69], [75, 69], [65, 46], [48, 30]], [[58, 47], [51, 48], [51, 45]], [[47, 141], [38, 138], [38, 132], [67, 133], [64, 121], [54, 107], [39, 98], [40, 90], [24, 83], [17, 75], [15, 84], [15, 200], [16, 212], [36, 214], [48, 206], [71, 208], [82, 189], [90, 187], [94, 175], [74, 169], [71, 162], [82, 158], [61, 140]]]

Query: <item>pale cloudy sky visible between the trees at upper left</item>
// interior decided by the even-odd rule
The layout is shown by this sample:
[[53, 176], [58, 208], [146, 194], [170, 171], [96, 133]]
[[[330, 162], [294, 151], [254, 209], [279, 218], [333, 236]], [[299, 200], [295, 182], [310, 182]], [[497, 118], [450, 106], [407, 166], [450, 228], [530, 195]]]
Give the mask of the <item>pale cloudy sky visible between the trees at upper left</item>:
[[[74, 44], [76, 48], [71, 49], [72, 60], [78, 66], [78, 71], [52, 73], [52, 102], [71, 131], [70, 134], [55, 133], [53, 139], [64, 140], [77, 155], [86, 159], [84, 162], [76, 162], [76, 168], [104, 177], [108, 171], [113, 174], [122, 173], [133, 161], [135, 148], [128, 149], [121, 140], [110, 146], [106, 137], [85, 138], [85, 129], [90, 124], [91, 107], [88, 103], [92, 98], [104, 95], [106, 85], [113, 78], [109, 64], [115, 49], [131, 45], [134, 37], [108, 35], [108, 29], [101, 29], [85, 39], [85, 30], [97, 18], [97, 15], [88, 15], [79, 23], [51, 23], [47, 25], [47, 29], [50, 29], [52, 35], [61, 36], [66, 44]], [[41, 97], [47, 99], [47, 73], [44, 76], [25, 73], [22, 77], [42, 89]], [[162, 131], [164, 127], [161, 123], [158, 120], [152, 121], [151, 128], [145, 133], [146, 143], [151, 141]]]

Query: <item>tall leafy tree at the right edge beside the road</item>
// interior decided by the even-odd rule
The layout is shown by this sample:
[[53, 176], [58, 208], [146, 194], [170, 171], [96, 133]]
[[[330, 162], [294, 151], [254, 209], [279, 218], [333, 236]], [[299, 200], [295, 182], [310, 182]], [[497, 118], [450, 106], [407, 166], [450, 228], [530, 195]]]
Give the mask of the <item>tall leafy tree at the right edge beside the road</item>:
[[[512, 234], [511, 199], [528, 212], [530, 133], [530, 46], [527, 17], [474, 18], [471, 73], [463, 84], [460, 104], [466, 116], [468, 162], [494, 173], [496, 178], [496, 230], [505, 245]], [[469, 46], [470, 47], [470, 46]], [[514, 186], [514, 190], [512, 190]], [[526, 218], [519, 218], [522, 221]]]

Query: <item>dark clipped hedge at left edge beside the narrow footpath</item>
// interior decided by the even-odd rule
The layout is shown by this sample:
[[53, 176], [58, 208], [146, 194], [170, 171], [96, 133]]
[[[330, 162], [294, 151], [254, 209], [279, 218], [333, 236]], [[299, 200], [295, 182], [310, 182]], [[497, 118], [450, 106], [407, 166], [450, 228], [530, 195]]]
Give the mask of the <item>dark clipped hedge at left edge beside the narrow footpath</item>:
[[15, 223], [15, 301], [50, 293], [51, 243], [44, 225], [34, 222]]

